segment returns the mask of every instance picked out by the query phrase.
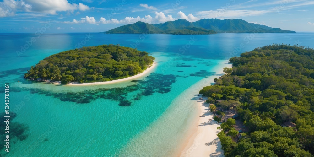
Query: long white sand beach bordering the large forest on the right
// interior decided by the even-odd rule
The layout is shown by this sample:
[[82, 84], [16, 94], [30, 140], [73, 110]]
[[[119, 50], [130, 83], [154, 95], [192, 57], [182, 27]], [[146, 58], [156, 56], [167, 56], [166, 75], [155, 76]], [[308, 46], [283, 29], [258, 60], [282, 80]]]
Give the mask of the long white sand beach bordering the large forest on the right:
[[[231, 66], [231, 64], [226, 64], [222, 68], [230, 68]], [[222, 68], [217, 73], [223, 73]], [[218, 77], [210, 76], [208, 78], [202, 79], [201, 81], [207, 81], [207, 83], [206, 85], [201, 85], [204, 85], [203, 87], [209, 86], [214, 82], [214, 78]], [[200, 89], [203, 87], [198, 86]], [[202, 95], [197, 97], [197, 99], [199, 98], [202, 98]], [[214, 121], [214, 113], [210, 112], [209, 104], [205, 103], [206, 99], [197, 100], [195, 103], [198, 109], [198, 114], [195, 115], [197, 116], [197, 120], [195, 123], [191, 124], [192, 126], [189, 128], [190, 130], [189, 134], [187, 134], [187, 139], [182, 143], [182, 146], [180, 147], [176, 156], [224, 156], [224, 152], [221, 149], [221, 142], [217, 137], [217, 134], [219, 133], [217, 127], [219, 127], [220, 124]]]

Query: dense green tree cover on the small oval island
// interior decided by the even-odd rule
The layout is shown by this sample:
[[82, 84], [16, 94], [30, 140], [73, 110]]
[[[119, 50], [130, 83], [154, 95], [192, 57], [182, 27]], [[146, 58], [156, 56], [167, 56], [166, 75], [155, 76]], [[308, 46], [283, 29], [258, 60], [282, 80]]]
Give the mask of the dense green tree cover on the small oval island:
[[82, 47], [60, 52], [32, 66], [24, 78], [68, 82], [104, 82], [143, 72], [154, 62], [149, 53], [117, 45]]

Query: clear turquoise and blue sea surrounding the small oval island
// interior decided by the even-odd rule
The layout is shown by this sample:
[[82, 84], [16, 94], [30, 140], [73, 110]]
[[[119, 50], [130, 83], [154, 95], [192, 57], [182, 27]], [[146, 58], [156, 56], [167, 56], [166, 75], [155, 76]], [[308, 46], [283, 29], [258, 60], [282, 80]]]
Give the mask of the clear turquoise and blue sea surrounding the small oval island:
[[[195, 89], [193, 85], [206, 77], [219, 77], [217, 72], [226, 66], [226, 60], [244, 51], [272, 43], [309, 47], [314, 43], [314, 33], [0, 36], [0, 80], [10, 83], [10, 112], [16, 114], [10, 120], [8, 156], [172, 154], [197, 112], [193, 97], [201, 87]], [[36, 41], [31, 43], [32, 37]], [[108, 85], [77, 87], [24, 80], [30, 66], [46, 56], [78, 48], [79, 43], [119, 43], [147, 51], [156, 57], [157, 67], [138, 81]], [[3, 152], [0, 154], [6, 155]]]

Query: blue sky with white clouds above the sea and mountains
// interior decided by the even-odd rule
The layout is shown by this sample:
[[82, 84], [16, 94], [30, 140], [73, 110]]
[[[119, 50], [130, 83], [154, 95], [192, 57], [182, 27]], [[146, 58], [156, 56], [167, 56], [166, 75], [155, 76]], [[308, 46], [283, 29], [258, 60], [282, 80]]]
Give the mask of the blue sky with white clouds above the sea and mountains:
[[100, 32], [143, 21], [243, 19], [314, 31], [313, 0], [2, 0], [0, 32]]

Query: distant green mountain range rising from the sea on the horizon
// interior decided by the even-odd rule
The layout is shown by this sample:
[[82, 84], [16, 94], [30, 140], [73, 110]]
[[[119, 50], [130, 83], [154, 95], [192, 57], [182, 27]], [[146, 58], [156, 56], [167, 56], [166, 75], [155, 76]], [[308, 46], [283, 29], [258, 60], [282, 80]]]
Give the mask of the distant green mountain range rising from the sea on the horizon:
[[261, 24], [248, 23], [242, 19], [201, 19], [189, 22], [185, 19], [168, 21], [163, 24], [136, 22], [108, 30], [106, 34], [216, 34], [216, 33], [295, 33], [291, 30], [272, 28]]

